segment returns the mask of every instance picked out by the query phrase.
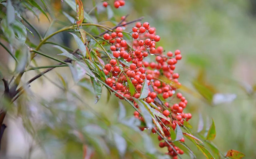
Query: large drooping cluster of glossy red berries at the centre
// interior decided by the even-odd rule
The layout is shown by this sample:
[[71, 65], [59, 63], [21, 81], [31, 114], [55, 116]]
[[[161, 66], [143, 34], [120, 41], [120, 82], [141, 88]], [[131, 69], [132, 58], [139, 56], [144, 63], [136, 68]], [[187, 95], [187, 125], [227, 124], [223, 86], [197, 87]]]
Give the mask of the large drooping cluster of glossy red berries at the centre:
[[[184, 120], [188, 121], [191, 118], [190, 113], [183, 112], [188, 101], [181, 93], [176, 93], [181, 85], [178, 81], [179, 74], [174, 73], [175, 64], [182, 58], [180, 50], [176, 50], [174, 54], [167, 52], [165, 55], [162, 46], [156, 47], [156, 43], [160, 40], [160, 36], [156, 35], [156, 28], [150, 27], [148, 22], [136, 23], [135, 27], [132, 28], [132, 42], [130, 44], [123, 39], [123, 29], [123, 27], [118, 27], [111, 34], [103, 35], [108, 44], [111, 44], [110, 50], [114, 57], [105, 65], [103, 70], [105, 75], [108, 76], [106, 83], [117, 92], [116, 97], [119, 99], [125, 97], [131, 100], [137, 108], [139, 107], [134, 99], [140, 98], [143, 83], [148, 84], [148, 86], [151, 85], [151, 91], [148, 90], [148, 96], [143, 100], [147, 103], [155, 103], [158, 106], [157, 110], [161, 111], [171, 121], [170, 123], [162, 118], [158, 122], [165, 136], [168, 137], [169, 144], [173, 145], [169, 130], [175, 130], [177, 124], [183, 125]], [[156, 62], [147, 62], [144, 58], [148, 54], [154, 55]], [[167, 80], [161, 80], [163, 78]], [[129, 81], [136, 92], [130, 92]], [[174, 93], [176, 93], [179, 103], [172, 106], [168, 102], [161, 104], [155, 101], [160, 96], [167, 101]], [[139, 112], [135, 111], [134, 116], [145, 125]], [[140, 130], [143, 131], [145, 128], [145, 126], [141, 126]], [[155, 129], [157, 128], [155, 127]], [[153, 133], [156, 133], [155, 129], [152, 129]], [[158, 136], [158, 139], [162, 140], [160, 136]], [[184, 138], [180, 141], [184, 142]], [[174, 145], [175, 150], [173, 150], [169, 144], [160, 142], [159, 147], [167, 147], [168, 154], [174, 159], [177, 158], [177, 153], [184, 153]]]

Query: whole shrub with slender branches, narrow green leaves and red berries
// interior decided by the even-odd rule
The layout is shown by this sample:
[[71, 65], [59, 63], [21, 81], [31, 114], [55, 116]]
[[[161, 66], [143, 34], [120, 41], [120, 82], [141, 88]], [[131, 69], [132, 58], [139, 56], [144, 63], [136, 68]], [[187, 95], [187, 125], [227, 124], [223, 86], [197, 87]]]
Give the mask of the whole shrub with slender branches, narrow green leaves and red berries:
[[[112, 1], [110, 2], [112, 3]], [[33, 0], [24, 0], [20, 3], [18, 1], [11, 2], [8, 0], [1, 1], [0, 3], [1, 9], [3, 10], [1, 11], [0, 17], [2, 29], [1, 41], [4, 41], [5, 45], [9, 45], [12, 49], [10, 50], [2, 42], [0, 44], [15, 62], [14, 70], [9, 68], [10, 64], [8, 64], [6, 66], [10, 69], [7, 71], [8, 73], [6, 73], [6, 75], [4, 73], [1, 74], [4, 83], [4, 100], [1, 103], [0, 122], [2, 127], [0, 139], [5, 129], [8, 129], [8, 125], [6, 128], [3, 122], [6, 113], [13, 112], [12, 109], [17, 109], [17, 112], [19, 112], [20, 107], [25, 106], [17, 102], [17, 99], [22, 98], [25, 92], [29, 91], [30, 83], [44, 76], [47, 72], [56, 67], [69, 67], [73, 80], [77, 85], [84, 86], [84, 82], [86, 83], [86, 81], [90, 80], [96, 97], [96, 103], [101, 97], [102, 87], [105, 87], [108, 90], [108, 95], [114, 94], [119, 100], [125, 100], [135, 109], [133, 113], [134, 117], [130, 118], [129, 121], [124, 120], [124, 116], [120, 117], [120, 123], [131, 127], [135, 131], [140, 130], [156, 134], [154, 137], [160, 141], [159, 147], [166, 147], [164, 150], [165, 153], [161, 154], [155, 149], [153, 151], [152, 149], [147, 150], [146, 153], [144, 151], [139, 152], [140, 155], [145, 158], [171, 157], [176, 159], [178, 157], [182, 158], [183, 154], [195, 158], [196, 156], [191, 150], [194, 150], [194, 148], [190, 148], [186, 144], [187, 140], [190, 140], [190, 145], [192, 143], [194, 147], [200, 150], [205, 157], [209, 159], [214, 157], [236, 159], [244, 156], [244, 154], [236, 150], [229, 150], [227, 155], [223, 155], [220, 150], [213, 145], [212, 140], [216, 136], [213, 120], [210, 129], [205, 135], [203, 133], [197, 133], [195, 135], [191, 132], [190, 129], [192, 126], [188, 121], [191, 119], [192, 115], [186, 111], [188, 101], [186, 97], [179, 92], [181, 83], [178, 79], [180, 75], [175, 71], [176, 64], [179, 60], [182, 60], [182, 52], [178, 49], [173, 52], [164, 50], [158, 42], [165, 39], [161, 39], [161, 37], [157, 35], [157, 28], [151, 26], [150, 22], [143, 21], [143, 18], [128, 21], [128, 15], [118, 15], [121, 19], [116, 21], [114, 26], [102, 25], [101, 22], [98, 21], [99, 15], [97, 13], [97, 7], [102, 5], [109, 10], [109, 14], [112, 14], [109, 1], [95, 4], [93, 0], [94, 7], [90, 12], [86, 13], [81, 0], [76, 0], [75, 2], [64, 0], [64, 2], [59, 3], [61, 3], [61, 5], [62, 3], [68, 4], [74, 10], [71, 14], [76, 13], [76, 15], [72, 17], [64, 11], [61, 12], [61, 14], [66, 16], [73, 24], [69, 24], [49, 34], [47, 31], [43, 37], [36, 27], [29, 22], [26, 13], [32, 12], [36, 16], [34, 10], [37, 9], [53, 24], [55, 21], [58, 21], [58, 18], [54, 18], [54, 15], [46, 12], [46, 8], [51, 8], [49, 7], [51, 3], [53, 2], [45, 3], [41, 1], [40, 4], [42, 4], [42, 6], [38, 5], [37, 2]], [[124, 0], [115, 0], [113, 1], [113, 6], [116, 9], [122, 9], [125, 3]], [[93, 10], [95, 11], [94, 17], [97, 20], [96, 22], [92, 20], [89, 15]], [[108, 18], [109, 16], [112, 15], [108, 15]], [[113, 17], [110, 18], [113, 21]], [[40, 20], [40, 18], [38, 20]], [[49, 30], [50, 27], [51, 25], [49, 26]], [[69, 46], [64, 46], [65, 44], [59, 44], [58, 41], [51, 41], [53, 36], [67, 31], [69, 31], [72, 38], [75, 39], [78, 49], [72, 50]], [[28, 34], [33, 35], [33, 37], [29, 37]], [[38, 44], [34, 44], [35, 38], [39, 39]], [[43, 53], [42, 51], [44, 49], [42, 49], [42, 46], [46, 44], [48, 44], [48, 47], [59, 49], [62, 52], [58, 54], [60, 56], [53, 57], [52, 55]], [[44, 56], [49, 60], [55, 60], [59, 63], [50, 66], [37, 66], [37, 64], [35, 64], [37, 56]], [[63, 56], [65, 56], [66, 59], [60, 60]], [[33, 63], [35, 66], [33, 66]], [[40, 72], [39, 69], [42, 68], [46, 70]], [[22, 77], [25, 76], [29, 70], [37, 70], [39, 73], [28, 81], [22, 81]], [[8, 79], [6, 76], [12, 77]], [[67, 86], [65, 79], [60, 74], [58, 74], [58, 76], [63, 86]], [[64, 87], [64, 90], [68, 91], [66, 87]], [[44, 89], [42, 89], [42, 91], [44, 91]], [[71, 93], [73, 98], [84, 102], [78, 92], [70, 91], [69, 93]], [[31, 98], [32, 97], [26, 99], [26, 101], [32, 100]], [[65, 99], [63, 99], [63, 101], [65, 101]], [[69, 102], [70, 101], [67, 100], [66, 104], [70, 104]], [[54, 102], [54, 104], [56, 103], [60, 104], [59, 102]], [[54, 118], [54, 115], [59, 117], [59, 115], [63, 113], [59, 109], [56, 109], [57, 111], [54, 109], [53, 113], [53, 109], [49, 106], [51, 102], [42, 105], [51, 111], [50, 114], [49, 112], [43, 112], [42, 114], [51, 116], [50, 118]], [[28, 132], [33, 134], [34, 139], [39, 143], [41, 140], [45, 139], [43, 133], [55, 135], [58, 139], [63, 140], [67, 139], [65, 135], [70, 135], [69, 133], [72, 131], [72, 138], [75, 137], [76, 139], [74, 140], [79, 140], [80, 145], [78, 145], [81, 149], [83, 147], [84, 157], [97, 158], [99, 154], [101, 157], [106, 156], [109, 152], [102, 153], [99, 147], [102, 147], [104, 144], [105, 147], [108, 147], [107, 145], [111, 147], [114, 143], [120, 156], [125, 155], [127, 158], [137, 158], [136, 155], [130, 156], [129, 153], [136, 154], [138, 152], [134, 150], [130, 150], [129, 153], [127, 152], [126, 140], [129, 140], [129, 137], [127, 138], [122, 134], [122, 130], [116, 128], [114, 123], [109, 123], [108, 120], [98, 115], [97, 112], [90, 108], [86, 110], [91, 111], [91, 113], [95, 115], [94, 120], [85, 116], [83, 116], [84, 118], [77, 118], [85, 112], [82, 112], [78, 105], [75, 105], [75, 109], [76, 114], [72, 114], [74, 112], [66, 110], [69, 113], [66, 117], [70, 117], [69, 119], [72, 122], [65, 123], [61, 120], [61, 124], [58, 125], [61, 127], [63, 126], [62, 124], [65, 123], [65, 126], [68, 128], [66, 131], [52, 128], [53, 126], [50, 122], [47, 123], [45, 121], [44, 124], [39, 124], [45, 129], [36, 127], [39, 121], [35, 120], [37, 118], [35, 118], [31, 112], [28, 116], [26, 113], [21, 112], [21, 116], [26, 119], [24, 120], [24, 125], [30, 125], [30, 127], [27, 128]], [[121, 109], [124, 109], [122, 104], [120, 104], [120, 110]], [[120, 116], [121, 114], [124, 115], [124, 113], [120, 111]], [[88, 123], [79, 123], [76, 119], [86, 119]], [[105, 121], [105, 123], [100, 123], [102, 121]], [[76, 125], [71, 123], [76, 123]], [[92, 124], [94, 125], [92, 126]], [[55, 133], [49, 133], [45, 131], [47, 129], [57, 131]], [[110, 136], [114, 139], [109, 139], [109, 134], [105, 134], [106, 131], [110, 132]], [[202, 129], [200, 131], [202, 131]], [[61, 136], [61, 133], [65, 135]], [[142, 138], [146, 138], [145, 136], [147, 136], [147, 133], [141, 132], [140, 134]], [[184, 137], [187, 139], [185, 140]], [[145, 140], [148, 141], [148, 138]], [[146, 142], [146, 144], [148, 143], [153, 144], [152, 142]], [[38, 144], [38, 146], [40, 145]], [[146, 145], [146, 147], [149, 146], [152, 147], [152, 145]], [[134, 149], [136, 146], [132, 145], [130, 147]], [[211, 150], [208, 150], [208, 147], [210, 147]]]

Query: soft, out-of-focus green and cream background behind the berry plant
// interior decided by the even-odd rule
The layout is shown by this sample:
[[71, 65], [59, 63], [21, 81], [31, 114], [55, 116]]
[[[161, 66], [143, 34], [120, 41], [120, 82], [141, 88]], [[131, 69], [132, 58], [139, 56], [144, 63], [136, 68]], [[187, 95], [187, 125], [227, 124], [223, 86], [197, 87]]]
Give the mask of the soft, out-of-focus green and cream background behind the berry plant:
[[[84, 10], [89, 12], [93, 2], [98, 2], [95, 1], [83, 0]], [[161, 36], [159, 44], [165, 51], [181, 50], [182, 60], [175, 72], [180, 74], [180, 83], [183, 85], [180, 92], [188, 100], [186, 112], [193, 115], [190, 120], [192, 132], [197, 131], [199, 116], [204, 121], [204, 130], [207, 130], [212, 118], [217, 134], [213, 143], [220, 151], [225, 154], [229, 149], [236, 149], [246, 155], [244, 158], [256, 158], [256, 1], [125, 2], [122, 9], [111, 11], [106, 11], [99, 4], [99, 21], [107, 20], [106, 13], [109, 15], [110, 12], [115, 13], [112, 18], [116, 21], [126, 14], [129, 14], [127, 21], [143, 16], [143, 21], [148, 21], [150, 26], [156, 28], [157, 34]], [[61, 10], [75, 15], [65, 2], [52, 0], [48, 4], [57, 22], [50, 23], [43, 14], [39, 14], [38, 22], [35, 16], [27, 14], [28, 20], [42, 34], [50, 25], [47, 34], [70, 25]], [[94, 13], [92, 18], [97, 21], [93, 16]], [[65, 22], [60, 23], [58, 20]], [[39, 42], [36, 36], [29, 38], [34, 44]], [[77, 47], [68, 33], [58, 34], [52, 41], [73, 49]], [[57, 57], [60, 51], [49, 46], [45, 44], [43, 52]], [[13, 61], [8, 59], [9, 55], [3, 48], [0, 50], [1, 70], [6, 70], [6, 75], [11, 77], [8, 69], [12, 69]], [[54, 64], [42, 57], [36, 57], [36, 62], [39, 66]], [[26, 82], [36, 73], [31, 71], [25, 74], [22, 81]], [[86, 79], [75, 84], [68, 68], [55, 68], [31, 83], [26, 95], [17, 101], [17, 107], [11, 108], [5, 121], [10, 126], [4, 132], [1, 153], [17, 158], [81, 158], [84, 151], [90, 154], [96, 150], [92, 158], [121, 158], [113, 148], [116, 139], [113, 136], [116, 137], [115, 132], [119, 131], [125, 136], [128, 145], [124, 158], [153, 158], [149, 152], [157, 152], [158, 155], [166, 152], [158, 148], [156, 135], [120, 125], [119, 100], [112, 95], [107, 101], [107, 93], [104, 88], [99, 102], [94, 104], [93, 90]], [[127, 118], [132, 117], [133, 108], [125, 102], [123, 104]], [[108, 132], [110, 127], [115, 131]], [[149, 138], [152, 139], [152, 147], [147, 146], [151, 142]], [[83, 144], [81, 141], [84, 140], [89, 144]], [[121, 143], [124, 145], [124, 142]], [[196, 147], [192, 146], [191, 149], [197, 158], [204, 158]], [[182, 155], [182, 158], [190, 157]]]

